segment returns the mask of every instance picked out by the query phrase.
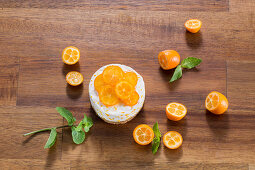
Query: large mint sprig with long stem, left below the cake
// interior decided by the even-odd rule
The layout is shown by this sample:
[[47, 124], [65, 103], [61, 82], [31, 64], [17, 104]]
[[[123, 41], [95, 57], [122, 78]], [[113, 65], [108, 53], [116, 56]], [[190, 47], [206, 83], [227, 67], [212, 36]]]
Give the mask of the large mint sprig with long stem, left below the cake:
[[[63, 107], [56, 107], [56, 110], [59, 112], [59, 114], [62, 117], [64, 117], [67, 120], [68, 125], [40, 129], [40, 130], [26, 133], [24, 134], [24, 136], [50, 130], [51, 131], [50, 136], [44, 146], [44, 148], [46, 149], [46, 148], [51, 148], [55, 144], [57, 139], [57, 129], [71, 127], [73, 142], [76, 144], [81, 144], [85, 140], [85, 132], [88, 132], [89, 129], [93, 126], [92, 119], [84, 114], [84, 118], [80, 121], [78, 126], [75, 126], [74, 123], [76, 119], [75, 117], [73, 117], [73, 114], [69, 110]], [[83, 131], [83, 129], [85, 132]]]

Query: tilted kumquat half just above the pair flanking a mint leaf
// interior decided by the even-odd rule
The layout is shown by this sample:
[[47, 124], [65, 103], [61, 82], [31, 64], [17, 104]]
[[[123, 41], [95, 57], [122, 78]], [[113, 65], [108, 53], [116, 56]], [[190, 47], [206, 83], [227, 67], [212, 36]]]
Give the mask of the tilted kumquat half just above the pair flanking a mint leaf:
[[181, 120], [187, 113], [187, 108], [181, 103], [169, 103], [166, 106], [166, 116], [169, 120]]

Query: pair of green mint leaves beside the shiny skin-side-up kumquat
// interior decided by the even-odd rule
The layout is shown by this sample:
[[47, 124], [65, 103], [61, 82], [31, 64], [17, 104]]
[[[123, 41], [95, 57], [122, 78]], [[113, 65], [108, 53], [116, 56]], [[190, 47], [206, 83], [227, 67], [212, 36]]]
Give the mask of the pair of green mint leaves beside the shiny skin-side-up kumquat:
[[170, 83], [175, 81], [175, 80], [178, 80], [179, 78], [182, 77], [182, 69], [183, 68], [186, 68], [186, 69], [192, 69], [196, 66], [198, 66], [200, 63], [202, 62], [201, 59], [199, 58], [195, 58], [195, 57], [187, 57], [185, 58], [181, 65], [178, 65], [174, 71], [174, 74], [172, 76], [172, 78], [170, 79]]

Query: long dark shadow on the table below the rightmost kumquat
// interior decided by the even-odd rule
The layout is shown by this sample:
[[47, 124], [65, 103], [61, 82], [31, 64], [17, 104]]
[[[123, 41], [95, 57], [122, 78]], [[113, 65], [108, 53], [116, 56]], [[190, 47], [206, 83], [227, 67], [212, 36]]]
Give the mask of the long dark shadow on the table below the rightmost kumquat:
[[229, 115], [224, 113], [222, 115], [215, 115], [208, 110], [206, 112], [206, 121], [209, 128], [213, 132], [215, 139], [219, 142], [224, 142], [229, 129]]

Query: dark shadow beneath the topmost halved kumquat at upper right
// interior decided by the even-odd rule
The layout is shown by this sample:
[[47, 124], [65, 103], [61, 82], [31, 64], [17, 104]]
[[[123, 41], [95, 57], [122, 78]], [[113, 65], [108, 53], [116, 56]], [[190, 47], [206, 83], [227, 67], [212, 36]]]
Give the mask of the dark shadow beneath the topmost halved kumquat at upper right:
[[197, 33], [190, 33], [186, 31], [185, 33], [186, 43], [190, 48], [196, 49], [199, 48], [203, 42], [202, 33], [199, 31]]

